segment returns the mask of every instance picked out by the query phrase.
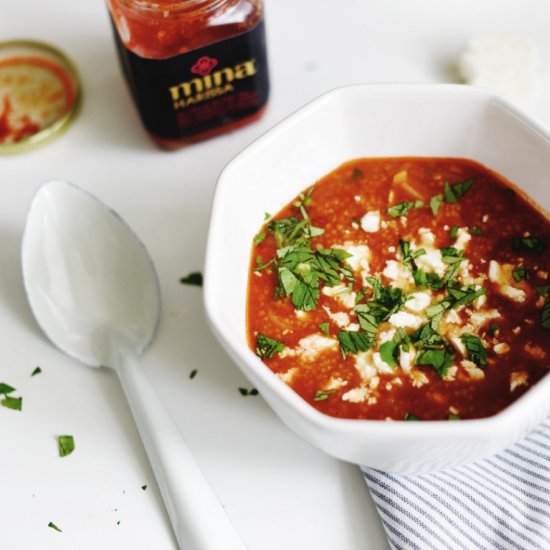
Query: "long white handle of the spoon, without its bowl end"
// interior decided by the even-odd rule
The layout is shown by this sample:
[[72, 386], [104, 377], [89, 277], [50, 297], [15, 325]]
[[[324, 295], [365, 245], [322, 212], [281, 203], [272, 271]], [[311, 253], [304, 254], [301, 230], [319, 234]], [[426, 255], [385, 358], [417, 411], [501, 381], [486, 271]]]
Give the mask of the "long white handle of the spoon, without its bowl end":
[[112, 351], [111, 366], [132, 409], [180, 548], [245, 550], [134, 354], [125, 346]]

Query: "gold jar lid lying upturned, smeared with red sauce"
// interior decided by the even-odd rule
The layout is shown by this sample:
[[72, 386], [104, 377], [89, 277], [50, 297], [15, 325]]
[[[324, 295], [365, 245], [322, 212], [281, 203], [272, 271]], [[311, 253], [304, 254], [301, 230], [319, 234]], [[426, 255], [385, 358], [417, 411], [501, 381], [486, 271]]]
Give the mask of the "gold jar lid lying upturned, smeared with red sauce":
[[81, 100], [78, 72], [63, 52], [31, 40], [0, 42], [0, 155], [59, 135]]

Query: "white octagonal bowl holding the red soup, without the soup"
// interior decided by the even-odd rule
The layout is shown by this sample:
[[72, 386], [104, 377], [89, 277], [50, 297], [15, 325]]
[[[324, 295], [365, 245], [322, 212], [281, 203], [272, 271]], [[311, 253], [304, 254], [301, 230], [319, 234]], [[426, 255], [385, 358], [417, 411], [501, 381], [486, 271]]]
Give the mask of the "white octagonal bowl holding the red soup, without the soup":
[[318, 412], [247, 345], [251, 243], [265, 212], [359, 157], [466, 157], [550, 210], [550, 134], [489, 91], [461, 85], [358, 85], [329, 92], [242, 151], [220, 175], [204, 297], [214, 334], [290, 429], [343, 460], [398, 473], [457, 466], [517, 441], [550, 412], [550, 377], [499, 414], [460, 422], [348, 420]]

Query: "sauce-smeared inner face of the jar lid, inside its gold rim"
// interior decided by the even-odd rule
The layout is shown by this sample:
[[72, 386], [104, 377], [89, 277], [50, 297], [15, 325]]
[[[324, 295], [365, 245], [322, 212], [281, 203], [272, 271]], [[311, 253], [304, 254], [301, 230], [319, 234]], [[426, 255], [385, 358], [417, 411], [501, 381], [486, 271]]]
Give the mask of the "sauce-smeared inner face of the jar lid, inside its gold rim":
[[30, 56], [0, 60], [0, 144], [38, 133], [69, 113], [75, 98], [74, 79], [62, 65]]

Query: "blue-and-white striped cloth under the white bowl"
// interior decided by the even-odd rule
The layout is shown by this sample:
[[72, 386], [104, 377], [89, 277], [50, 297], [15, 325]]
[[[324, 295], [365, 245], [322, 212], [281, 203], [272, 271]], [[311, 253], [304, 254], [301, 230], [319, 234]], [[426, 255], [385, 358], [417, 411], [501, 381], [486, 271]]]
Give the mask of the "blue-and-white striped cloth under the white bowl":
[[363, 475], [394, 549], [550, 549], [550, 418], [475, 464]]

